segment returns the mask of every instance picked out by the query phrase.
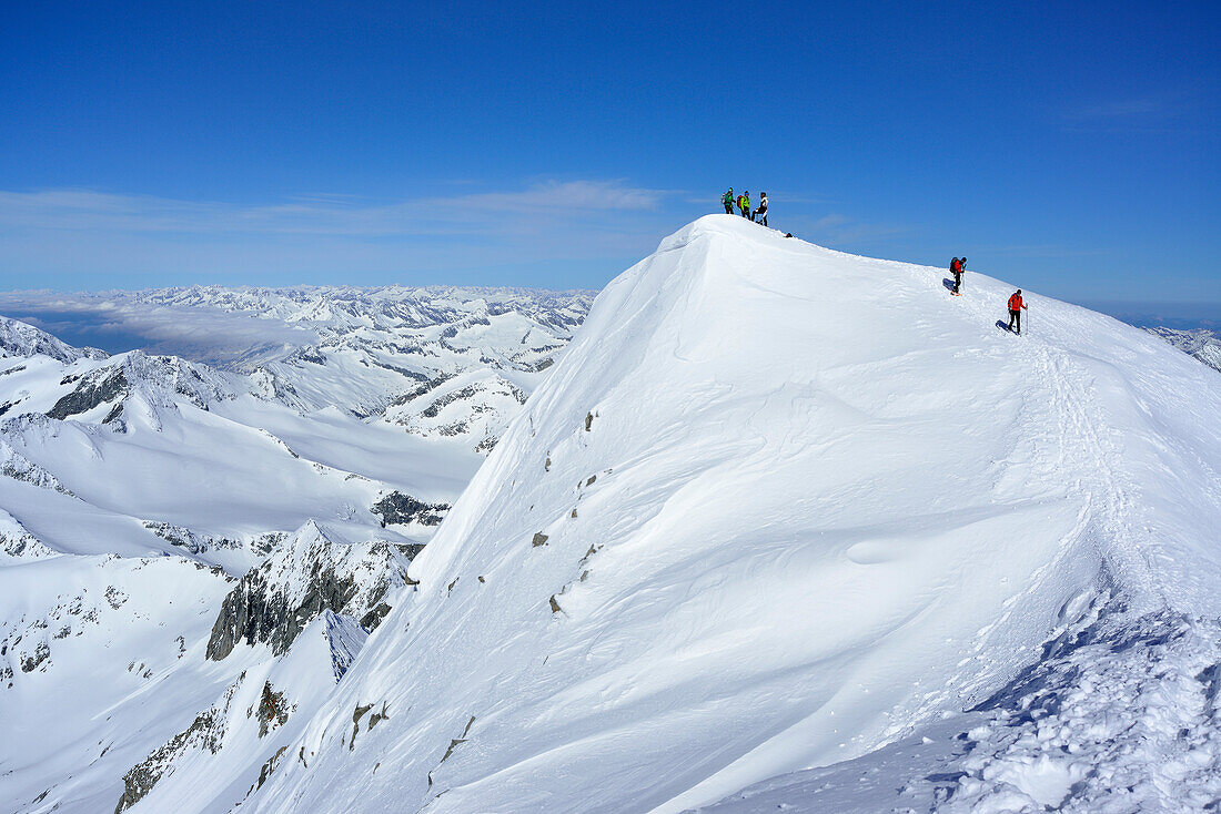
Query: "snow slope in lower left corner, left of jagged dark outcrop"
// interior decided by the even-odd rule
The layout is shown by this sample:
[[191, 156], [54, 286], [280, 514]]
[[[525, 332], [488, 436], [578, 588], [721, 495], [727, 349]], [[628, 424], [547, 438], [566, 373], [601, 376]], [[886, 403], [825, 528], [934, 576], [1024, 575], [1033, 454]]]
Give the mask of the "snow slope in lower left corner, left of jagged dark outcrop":
[[204, 660], [231, 580], [172, 556], [0, 564], [5, 810], [112, 810], [123, 774], [244, 666]]

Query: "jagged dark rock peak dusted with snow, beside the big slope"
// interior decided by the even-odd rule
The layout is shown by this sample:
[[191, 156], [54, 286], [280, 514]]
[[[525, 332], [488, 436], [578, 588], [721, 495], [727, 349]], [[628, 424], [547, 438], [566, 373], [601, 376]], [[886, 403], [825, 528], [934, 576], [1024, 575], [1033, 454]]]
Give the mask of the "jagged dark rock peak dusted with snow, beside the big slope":
[[409, 585], [407, 566], [420, 548], [338, 543], [308, 522], [225, 598], [208, 658], [221, 660], [241, 642], [267, 644], [281, 655], [326, 610], [376, 627], [389, 613], [391, 591]]

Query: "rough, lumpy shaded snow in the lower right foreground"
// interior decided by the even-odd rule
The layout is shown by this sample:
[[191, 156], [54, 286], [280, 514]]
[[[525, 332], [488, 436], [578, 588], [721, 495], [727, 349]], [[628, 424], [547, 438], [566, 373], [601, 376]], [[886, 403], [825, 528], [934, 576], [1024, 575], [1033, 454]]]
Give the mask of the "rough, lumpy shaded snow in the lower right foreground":
[[702, 814], [1209, 812], [1221, 799], [1221, 621], [1133, 614], [1104, 591], [977, 707]]

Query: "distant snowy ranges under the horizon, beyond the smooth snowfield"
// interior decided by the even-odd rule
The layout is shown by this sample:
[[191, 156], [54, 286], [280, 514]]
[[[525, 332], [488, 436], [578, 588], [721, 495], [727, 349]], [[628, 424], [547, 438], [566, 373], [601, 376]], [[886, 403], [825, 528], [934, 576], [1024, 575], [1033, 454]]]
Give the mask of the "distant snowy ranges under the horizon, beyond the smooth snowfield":
[[[114, 316], [136, 333], [151, 331], [160, 338], [156, 349], [179, 355], [142, 358], [142, 351], [132, 351], [107, 365], [115, 370], [94, 364], [66, 371], [60, 386], [76, 383], [78, 392], [60, 392], [56, 399], [62, 403], [40, 408], [55, 417], [116, 422], [121, 428], [127, 422], [123, 410], [132, 412], [122, 402], [132, 393], [154, 408], [168, 406], [177, 397], [205, 408], [248, 393], [303, 415], [337, 408], [376, 422], [421, 388], [465, 375], [480, 380], [475, 389], [486, 392], [464, 394], [442, 419], [405, 409], [388, 421], [411, 434], [453, 438], [481, 453], [496, 444], [557, 361], [593, 299], [589, 292], [399, 286], [211, 286], [76, 297], [82, 312]], [[9, 327], [10, 354], [39, 348], [48, 361], [61, 364], [100, 359], [31, 326]], [[20, 370], [11, 365], [0, 375]], [[139, 386], [144, 377], [148, 387]], [[34, 409], [28, 398], [11, 398], [2, 389], [0, 399], [0, 415]], [[149, 421], [156, 425], [155, 417]]]

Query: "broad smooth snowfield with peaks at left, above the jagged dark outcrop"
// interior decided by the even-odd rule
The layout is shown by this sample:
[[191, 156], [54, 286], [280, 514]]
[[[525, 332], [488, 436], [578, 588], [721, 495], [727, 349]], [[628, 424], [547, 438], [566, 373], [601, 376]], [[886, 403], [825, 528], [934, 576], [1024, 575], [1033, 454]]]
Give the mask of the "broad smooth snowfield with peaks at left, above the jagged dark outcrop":
[[422, 542], [431, 528], [383, 530], [372, 505], [396, 491], [448, 504], [481, 459], [269, 404], [241, 376], [173, 356], [34, 355], [0, 370], [13, 371], [0, 376], [0, 506], [68, 554], [183, 554], [241, 576], [310, 519]]

